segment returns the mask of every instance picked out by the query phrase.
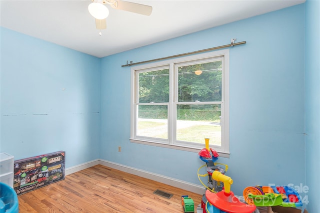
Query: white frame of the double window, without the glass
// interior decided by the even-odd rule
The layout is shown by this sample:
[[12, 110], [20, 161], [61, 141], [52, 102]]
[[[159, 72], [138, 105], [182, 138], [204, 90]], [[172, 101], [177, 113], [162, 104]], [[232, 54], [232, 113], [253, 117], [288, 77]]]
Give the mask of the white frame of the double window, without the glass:
[[[190, 152], [199, 152], [199, 150], [204, 148], [203, 147], [196, 147], [188, 143], [181, 143], [175, 142], [175, 122], [176, 122], [176, 115], [174, 107], [176, 107], [175, 100], [173, 94], [176, 91], [173, 91], [174, 84], [177, 81], [177, 72], [172, 71], [174, 66], [178, 63], [193, 61], [193, 60], [200, 60], [200, 59], [209, 59], [209, 58], [216, 58], [216, 57], [223, 57], [222, 60], [222, 97], [221, 97], [221, 146], [216, 147], [213, 145], [209, 145], [214, 150], [219, 153], [220, 157], [229, 157], [229, 49], [223, 49], [213, 52], [189, 55], [179, 58], [171, 58], [163, 61], [132, 66], [131, 67], [131, 114], [130, 114], [130, 141], [133, 143], [151, 145], [151, 146], [158, 146], [164, 148], [171, 148], [183, 151], [190, 151]], [[137, 86], [136, 86], [136, 72], [140, 72], [143, 69], [152, 69], [154, 67], [163, 67], [169, 66], [169, 87], [170, 87], [170, 94], [169, 94], [169, 103], [168, 103], [168, 140], [157, 140], [157, 139], [150, 139], [146, 137], [136, 136], [135, 135], [135, 127], [136, 127], [136, 100], [137, 100]], [[188, 104], [188, 103], [187, 103]], [[204, 140], [204, 139], [203, 139]]]

